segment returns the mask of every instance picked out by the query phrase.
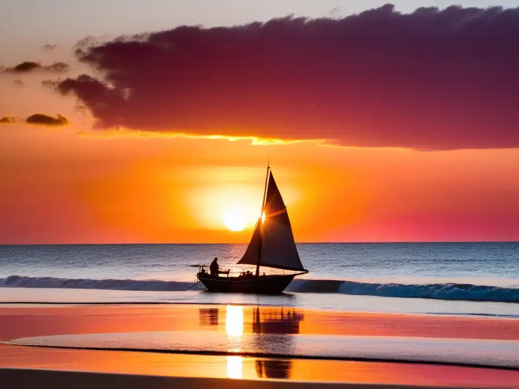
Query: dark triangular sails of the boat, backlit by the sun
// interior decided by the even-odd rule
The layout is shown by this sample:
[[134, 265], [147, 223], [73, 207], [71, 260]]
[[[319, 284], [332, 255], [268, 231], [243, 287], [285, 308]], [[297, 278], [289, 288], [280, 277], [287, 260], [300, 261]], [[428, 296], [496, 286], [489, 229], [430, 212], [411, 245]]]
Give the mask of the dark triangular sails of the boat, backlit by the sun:
[[[265, 219], [258, 220], [247, 251], [238, 263], [306, 271], [299, 258], [286, 206], [272, 172], [265, 197]], [[261, 255], [260, 255], [261, 253]]]

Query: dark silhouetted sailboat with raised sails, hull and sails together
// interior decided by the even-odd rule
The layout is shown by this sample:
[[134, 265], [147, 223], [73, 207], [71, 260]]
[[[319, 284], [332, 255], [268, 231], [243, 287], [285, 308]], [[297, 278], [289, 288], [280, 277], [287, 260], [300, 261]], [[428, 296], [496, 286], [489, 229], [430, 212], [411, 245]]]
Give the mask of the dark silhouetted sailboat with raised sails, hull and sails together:
[[[237, 262], [240, 265], [255, 265], [256, 273], [229, 277], [227, 272], [227, 277], [221, 277], [201, 269], [197, 274], [198, 280], [209, 291], [281, 294], [296, 275], [308, 273], [299, 258], [289, 214], [269, 165], [260, 215], [245, 254]], [[260, 275], [261, 266], [294, 273]]]

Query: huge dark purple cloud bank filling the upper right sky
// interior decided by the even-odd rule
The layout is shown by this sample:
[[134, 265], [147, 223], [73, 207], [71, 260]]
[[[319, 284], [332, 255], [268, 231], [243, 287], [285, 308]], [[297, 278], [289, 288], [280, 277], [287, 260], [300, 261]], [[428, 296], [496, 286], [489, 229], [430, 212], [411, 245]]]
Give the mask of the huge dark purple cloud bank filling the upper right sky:
[[[418, 149], [519, 147], [519, 8], [177, 27], [77, 58], [98, 126]], [[88, 43], [88, 41], [87, 41]]]

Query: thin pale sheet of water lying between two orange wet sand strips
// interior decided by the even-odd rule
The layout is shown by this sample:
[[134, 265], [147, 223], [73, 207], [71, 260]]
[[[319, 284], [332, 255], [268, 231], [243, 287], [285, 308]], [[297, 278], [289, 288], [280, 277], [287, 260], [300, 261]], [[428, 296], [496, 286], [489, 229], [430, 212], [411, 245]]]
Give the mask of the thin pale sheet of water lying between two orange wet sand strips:
[[[241, 307], [237, 307], [241, 308]], [[73, 349], [116, 349], [181, 354], [277, 358], [359, 359], [466, 364], [519, 369], [519, 341], [384, 336], [243, 334], [216, 331], [153, 331], [54, 335], [10, 344]]]

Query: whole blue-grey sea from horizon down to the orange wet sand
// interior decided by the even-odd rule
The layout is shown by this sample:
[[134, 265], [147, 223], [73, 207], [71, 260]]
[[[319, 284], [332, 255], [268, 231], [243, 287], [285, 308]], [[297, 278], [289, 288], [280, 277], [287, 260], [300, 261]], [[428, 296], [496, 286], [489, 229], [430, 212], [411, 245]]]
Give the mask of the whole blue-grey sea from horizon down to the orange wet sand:
[[[242, 244], [0, 245], [0, 302], [168, 302], [519, 317], [519, 243], [305, 243], [282, 296], [193, 286]], [[252, 270], [252, 269], [251, 269]], [[269, 273], [269, 269], [263, 269]], [[188, 290], [185, 290], [188, 289]]]

